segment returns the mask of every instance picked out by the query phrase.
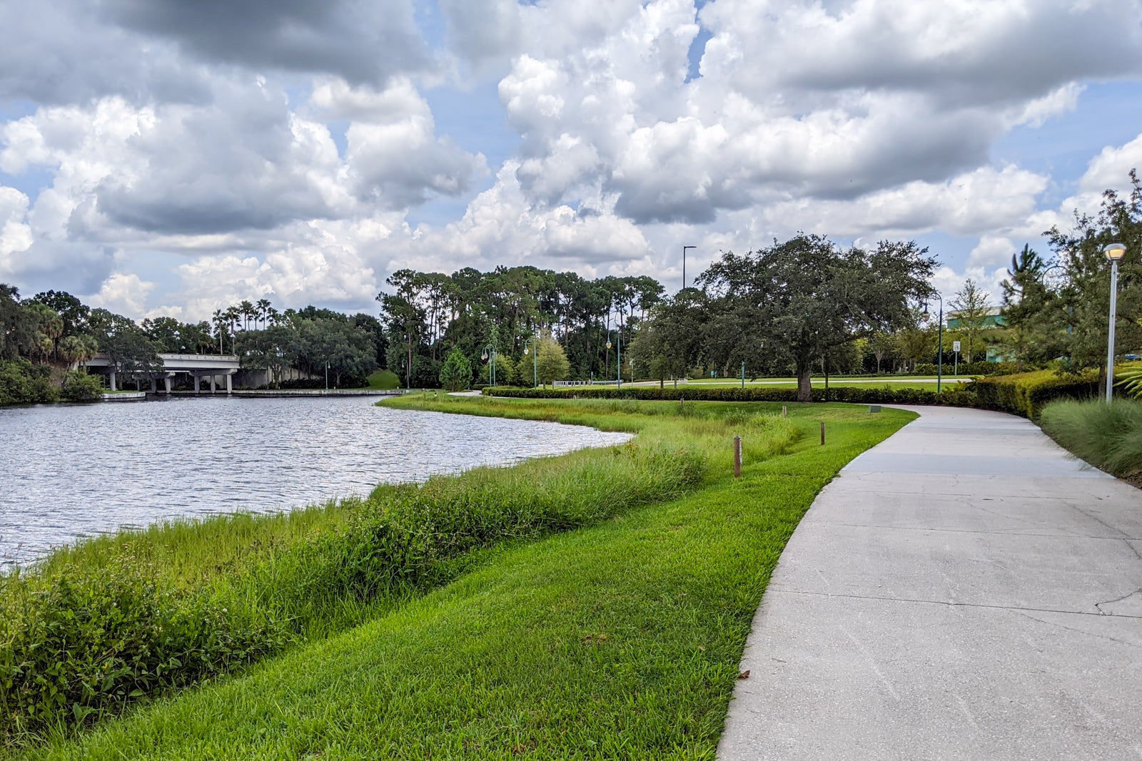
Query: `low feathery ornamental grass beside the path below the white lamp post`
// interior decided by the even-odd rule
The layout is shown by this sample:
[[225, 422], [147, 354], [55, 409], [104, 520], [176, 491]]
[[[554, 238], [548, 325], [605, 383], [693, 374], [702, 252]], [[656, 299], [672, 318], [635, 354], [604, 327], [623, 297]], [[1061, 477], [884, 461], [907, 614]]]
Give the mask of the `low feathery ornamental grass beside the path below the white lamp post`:
[[1052, 402], [1043, 408], [1039, 424], [1096, 468], [1119, 477], [1142, 473], [1142, 402]]

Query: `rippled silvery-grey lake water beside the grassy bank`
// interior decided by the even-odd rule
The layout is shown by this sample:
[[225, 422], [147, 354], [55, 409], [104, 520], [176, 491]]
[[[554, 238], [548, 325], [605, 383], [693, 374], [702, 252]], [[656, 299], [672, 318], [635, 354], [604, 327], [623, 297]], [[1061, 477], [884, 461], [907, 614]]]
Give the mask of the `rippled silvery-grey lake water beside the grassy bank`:
[[0, 408], [0, 567], [120, 527], [275, 511], [626, 434], [373, 406], [174, 397]]

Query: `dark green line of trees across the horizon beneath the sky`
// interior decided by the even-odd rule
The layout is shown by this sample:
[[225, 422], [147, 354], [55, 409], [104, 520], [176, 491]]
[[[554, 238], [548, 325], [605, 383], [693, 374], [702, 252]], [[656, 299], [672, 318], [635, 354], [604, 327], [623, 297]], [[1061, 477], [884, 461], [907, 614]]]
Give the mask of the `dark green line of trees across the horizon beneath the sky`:
[[[571, 379], [661, 382], [694, 374], [880, 373], [971, 363], [988, 353], [1018, 367], [1103, 369], [1109, 268], [1102, 246], [1126, 244], [1118, 346], [1142, 346], [1142, 187], [1108, 191], [1101, 209], [1069, 230], [1047, 230], [1049, 257], [1013, 257], [999, 303], [968, 280], [943, 309], [939, 354], [935, 259], [912, 241], [844, 248], [799, 234], [747, 253], [723, 252], [687, 288], [667, 296], [649, 276], [584, 278], [530, 266], [452, 274], [394, 272], [377, 294], [379, 317], [267, 299], [218, 309], [211, 319], [140, 323], [91, 309], [69, 293], [21, 299], [0, 284], [0, 361], [73, 367], [96, 351], [128, 375], [158, 354], [236, 354], [282, 382], [324, 377], [361, 384], [389, 370], [402, 386], [530, 386]], [[998, 319], [998, 324], [996, 324]], [[951, 351], [960, 340], [962, 355]], [[1103, 369], [1104, 370], [1104, 369]], [[493, 379], [494, 374], [494, 379]]]

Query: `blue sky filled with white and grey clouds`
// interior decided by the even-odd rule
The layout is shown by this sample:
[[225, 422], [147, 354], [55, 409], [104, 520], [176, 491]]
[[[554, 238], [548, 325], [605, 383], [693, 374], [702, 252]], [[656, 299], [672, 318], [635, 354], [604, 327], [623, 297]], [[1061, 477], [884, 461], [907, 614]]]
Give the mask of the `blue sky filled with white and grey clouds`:
[[0, 281], [132, 317], [797, 230], [951, 296], [1134, 167], [1140, 0], [0, 0]]

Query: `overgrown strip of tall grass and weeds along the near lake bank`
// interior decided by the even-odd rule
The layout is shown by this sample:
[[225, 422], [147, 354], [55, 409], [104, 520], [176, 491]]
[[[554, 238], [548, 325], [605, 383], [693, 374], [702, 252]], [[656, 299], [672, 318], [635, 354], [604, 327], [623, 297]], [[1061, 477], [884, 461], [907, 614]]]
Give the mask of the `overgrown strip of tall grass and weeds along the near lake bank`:
[[605, 458], [378, 487], [339, 529], [183, 583], [129, 544], [96, 561], [0, 576], [0, 745], [336, 630], [346, 606], [448, 581], [473, 550], [669, 499], [697, 485], [703, 469], [700, 453], [628, 444]]

